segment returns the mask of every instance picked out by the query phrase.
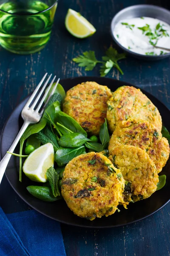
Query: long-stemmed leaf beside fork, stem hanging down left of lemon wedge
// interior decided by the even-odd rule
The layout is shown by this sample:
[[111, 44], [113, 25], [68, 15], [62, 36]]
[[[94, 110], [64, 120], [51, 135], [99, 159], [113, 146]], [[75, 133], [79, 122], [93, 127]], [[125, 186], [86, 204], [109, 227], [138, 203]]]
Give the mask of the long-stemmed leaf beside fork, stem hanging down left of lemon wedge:
[[[23, 133], [22, 137], [20, 138], [20, 155], [23, 154], [23, 144], [24, 141], [31, 136], [32, 134], [36, 134], [37, 132], [41, 131], [47, 121], [44, 118], [41, 118], [40, 122], [34, 125], [29, 125], [28, 128], [26, 128], [26, 131]], [[20, 157], [20, 182], [22, 181], [22, 157]]]

